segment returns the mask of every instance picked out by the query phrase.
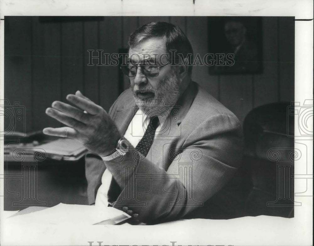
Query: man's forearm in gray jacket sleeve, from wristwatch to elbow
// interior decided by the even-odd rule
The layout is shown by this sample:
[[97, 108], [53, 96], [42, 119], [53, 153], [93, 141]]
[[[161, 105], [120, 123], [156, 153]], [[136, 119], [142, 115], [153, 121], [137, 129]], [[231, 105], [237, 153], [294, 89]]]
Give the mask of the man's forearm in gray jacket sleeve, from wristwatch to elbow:
[[[138, 214], [139, 221], [174, 219], [184, 209], [187, 200], [178, 197], [187, 197], [187, 191], [178, 175], [165, 172], [150, 157], [143, 158], [130, 149], [122, 161], [108, 161], [106, 166], [122, 190], [114, 207], [122, 210], [127, 207], [132, 214]], [[174, 206], [177, 209], [173, 210]]]

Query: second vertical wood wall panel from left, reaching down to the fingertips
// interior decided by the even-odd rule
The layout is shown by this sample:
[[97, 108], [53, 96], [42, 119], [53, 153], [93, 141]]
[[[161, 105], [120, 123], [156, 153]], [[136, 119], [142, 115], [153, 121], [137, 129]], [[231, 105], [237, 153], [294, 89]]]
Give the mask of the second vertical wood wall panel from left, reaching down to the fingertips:
[[60, 23], [39, 23], [33, 17], [33, 117], [34, 129], [58, 127], [55, 119], [46, 115], [51, 103], [60, 100]]

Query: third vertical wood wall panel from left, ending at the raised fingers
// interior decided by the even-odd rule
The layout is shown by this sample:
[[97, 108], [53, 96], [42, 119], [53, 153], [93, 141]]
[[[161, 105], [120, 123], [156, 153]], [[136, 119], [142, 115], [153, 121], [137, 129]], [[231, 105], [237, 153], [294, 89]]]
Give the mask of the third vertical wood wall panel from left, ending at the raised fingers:
[[83, 23], [63, 22], [62, 35], [62, 92], [61, 100], [77, 90], [84, 93], [83, 85]]

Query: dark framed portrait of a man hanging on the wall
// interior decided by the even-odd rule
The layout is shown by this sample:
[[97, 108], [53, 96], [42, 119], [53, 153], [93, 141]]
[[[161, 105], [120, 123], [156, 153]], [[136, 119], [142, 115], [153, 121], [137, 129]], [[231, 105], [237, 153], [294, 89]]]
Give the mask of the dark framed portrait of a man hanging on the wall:
[[208, 17], [209, 73], [257, 74], [262, 67], [261, 17]]

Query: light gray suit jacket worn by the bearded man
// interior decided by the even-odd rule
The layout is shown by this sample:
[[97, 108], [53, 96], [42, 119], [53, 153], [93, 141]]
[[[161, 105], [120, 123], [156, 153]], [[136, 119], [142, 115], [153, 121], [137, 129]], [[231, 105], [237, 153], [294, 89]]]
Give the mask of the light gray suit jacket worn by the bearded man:
[[[112, 105], [109, 115], [124, 134], [134, 112], [135, 101], [128, 89]], [[122, 160], [105, 165], [99, 156], [86, 155], [89, 203], [95, 202], [107, 167], [113, 175], [110, 202], [128, 210], [136, 220], [158, 223], [240, 216], [241, 187], [230, 184], [230, 179], [241, 164], [242, 145], [236, 116], [191, 82], [146, 158], [131, 149]]]

